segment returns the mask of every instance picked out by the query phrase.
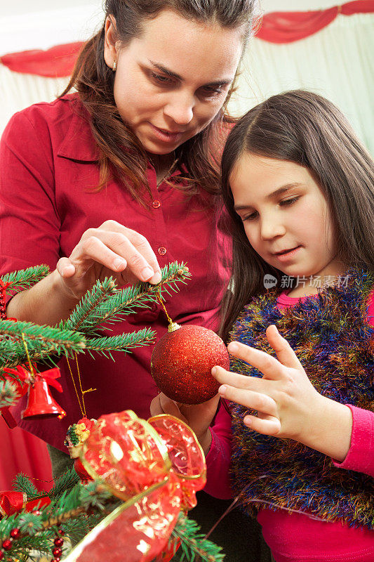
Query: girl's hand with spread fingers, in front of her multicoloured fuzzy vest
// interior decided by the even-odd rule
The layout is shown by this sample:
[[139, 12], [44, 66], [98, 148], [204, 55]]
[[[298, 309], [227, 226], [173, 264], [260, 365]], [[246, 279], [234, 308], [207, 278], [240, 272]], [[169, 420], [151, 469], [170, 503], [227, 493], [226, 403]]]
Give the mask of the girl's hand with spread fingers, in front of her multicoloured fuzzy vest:
[[[253, 365], [263, 377], [246, 377], [213, 367], [213, 376], [222, 384], [220, 396], [257, 410], [257, 417], [248, 414], [243, 422], [258, 433], [297, 440], [344, 459], [352, 431], [349, 408], [316, 391], [295, 352], [274, 325], [267, 328], [266, 335], [278, 359], [238, 341], [227, 346], [229, 353]], [[343, 435], [331, 435], [329, 439], [326, 431], [334, 431], [335, 425]]]

